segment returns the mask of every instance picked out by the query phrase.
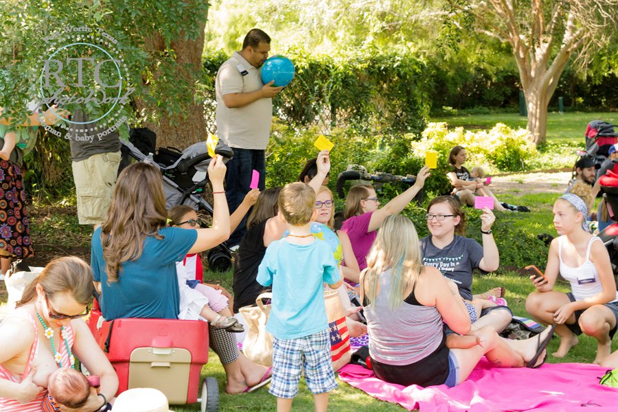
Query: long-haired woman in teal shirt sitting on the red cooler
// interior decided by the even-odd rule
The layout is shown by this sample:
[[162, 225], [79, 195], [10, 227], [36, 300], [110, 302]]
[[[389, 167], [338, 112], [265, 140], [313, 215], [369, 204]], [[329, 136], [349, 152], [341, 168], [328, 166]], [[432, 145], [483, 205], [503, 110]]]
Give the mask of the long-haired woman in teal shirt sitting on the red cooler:
[[[212, 227], [196, 230], [167, 227], [168, 212], [157, 168], [140, 162], [120, 173], [106, 221], [92, 237], [91, 266], [105, 319], [178, 317], [176, 262], [229, 237], [225, 170], [222, 157], [211, 160]], [[238, 352], [233, 334], [216, 328], [208, 328], [208, 332], [209, 345], [227, 375], [227, 393], [251, 391], [270, 380], [268, 368]]]

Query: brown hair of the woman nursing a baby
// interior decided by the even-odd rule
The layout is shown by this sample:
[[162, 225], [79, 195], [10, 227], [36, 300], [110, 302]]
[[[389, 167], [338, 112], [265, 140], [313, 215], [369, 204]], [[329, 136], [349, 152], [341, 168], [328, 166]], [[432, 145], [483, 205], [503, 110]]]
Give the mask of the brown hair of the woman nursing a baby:
[[58, 293], [69, 292], [80, 305], [92, 301], [92, 270], [89, 264], [76, 256], [65, 256], [49, 262], [41, 275], [26, 286], [21, 300], [15, 305], [17, 308], [36, 299], [36, 285], [41, 285], [45, 295], [50, 298]]

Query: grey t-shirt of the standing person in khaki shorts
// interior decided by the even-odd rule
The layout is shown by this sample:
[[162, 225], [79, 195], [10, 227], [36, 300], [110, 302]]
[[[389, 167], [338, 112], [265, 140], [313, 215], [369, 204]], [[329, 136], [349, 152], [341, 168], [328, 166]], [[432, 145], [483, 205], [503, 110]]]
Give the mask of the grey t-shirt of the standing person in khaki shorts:
[[[76, 110], [71, 117], [73, 122], [88, 122], [89, 118], [84, 111]], [[67, 132], [67, 139], [71, 144], [71, 159], [73, 161], [82, 161], [88, 159], [92, 155], [99, 153], [118, 152], [120, 150], [120, 135], [117, 131], [113, 131], [105, 136], [99, 136], [106, 131], [106, 127], [94, 127], [95, 123], [84, 124], [84, 130], [87, 132]], [[71, 125], [80, 127], [80, 125]], [[95, 130], [90, 131], [93, 128]]]

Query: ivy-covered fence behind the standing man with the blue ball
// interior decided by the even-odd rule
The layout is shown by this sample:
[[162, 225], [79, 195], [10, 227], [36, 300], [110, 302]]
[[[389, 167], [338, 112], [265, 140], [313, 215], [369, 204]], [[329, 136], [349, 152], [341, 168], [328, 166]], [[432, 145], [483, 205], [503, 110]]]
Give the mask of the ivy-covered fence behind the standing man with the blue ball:
[[[296, 76], [275, 98], [275, 113], [295, 128], [354, 129], [363, 135], [420, 132], [428, 115], [432, 87], [422, 60], [411, 54], [378, 53], [329, 56], [295, 47], [286, 51]], [[207, 54], [205, 87], [214, 102], [220, 53]], [[214, 124], [214, 111], [208, 124]]]

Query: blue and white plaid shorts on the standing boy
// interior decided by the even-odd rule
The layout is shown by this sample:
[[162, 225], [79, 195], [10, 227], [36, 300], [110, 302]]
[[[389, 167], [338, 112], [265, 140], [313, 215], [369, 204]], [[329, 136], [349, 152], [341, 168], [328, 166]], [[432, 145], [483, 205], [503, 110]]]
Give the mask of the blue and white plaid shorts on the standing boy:
[[336, 389], [328, 329], [297, 339], [277, 339], [273, 342], [273, 380], [268, 392], [277, 398], [294, 398], [305, 368], [307, 387], [314, 393]]

